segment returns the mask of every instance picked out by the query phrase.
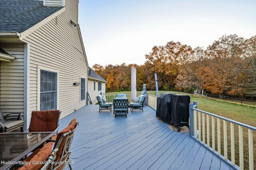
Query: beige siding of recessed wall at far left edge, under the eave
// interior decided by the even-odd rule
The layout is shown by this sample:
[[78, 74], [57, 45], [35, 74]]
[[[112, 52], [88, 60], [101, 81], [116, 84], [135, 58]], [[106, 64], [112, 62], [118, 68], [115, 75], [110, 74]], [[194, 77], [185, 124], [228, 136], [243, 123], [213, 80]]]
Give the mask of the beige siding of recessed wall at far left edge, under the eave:
[[0, 44], [15, 56], [0, 64], [0, 108], [5, 114], [24, 113], [24, 44]]

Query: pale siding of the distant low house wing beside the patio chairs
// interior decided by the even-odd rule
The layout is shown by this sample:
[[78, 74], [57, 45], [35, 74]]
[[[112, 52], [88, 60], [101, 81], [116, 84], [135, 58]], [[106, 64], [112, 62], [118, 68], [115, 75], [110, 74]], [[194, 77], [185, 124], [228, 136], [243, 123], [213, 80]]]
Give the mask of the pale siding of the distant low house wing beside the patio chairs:
[[[95, 81], [95, 90], [94, 90], [94, 81]], [[100, 95], [100, 92], [102, 92], [103, 94], [106, 93], [106, 83], [102, 82], [101, 90], [98, 91], [98, 81], [88, 79], [88, 92], [90, 94], [92, 104], [96, 104], [98, 102], [96, 99], [96, 96]]]

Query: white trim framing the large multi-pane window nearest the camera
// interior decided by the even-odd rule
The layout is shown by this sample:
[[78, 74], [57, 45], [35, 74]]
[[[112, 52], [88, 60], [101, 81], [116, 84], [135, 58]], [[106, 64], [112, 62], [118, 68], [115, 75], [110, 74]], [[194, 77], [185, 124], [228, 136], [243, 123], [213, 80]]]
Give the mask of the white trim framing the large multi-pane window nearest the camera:
[[40, 77], [41, 70], [57, 73], [57, 110], [59, 109], [59, 70], [37, 66], [37, 110], [40, 110]]

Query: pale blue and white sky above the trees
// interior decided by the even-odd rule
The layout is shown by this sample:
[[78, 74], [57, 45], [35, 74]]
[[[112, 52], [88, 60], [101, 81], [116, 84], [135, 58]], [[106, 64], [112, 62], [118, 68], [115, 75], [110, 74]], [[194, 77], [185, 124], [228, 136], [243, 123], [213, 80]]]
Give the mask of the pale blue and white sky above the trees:
[[256, 35], [255, 0], [80, 0], [88, 64], [144, 64], [154, 45], [206, 48], [222, 35]]

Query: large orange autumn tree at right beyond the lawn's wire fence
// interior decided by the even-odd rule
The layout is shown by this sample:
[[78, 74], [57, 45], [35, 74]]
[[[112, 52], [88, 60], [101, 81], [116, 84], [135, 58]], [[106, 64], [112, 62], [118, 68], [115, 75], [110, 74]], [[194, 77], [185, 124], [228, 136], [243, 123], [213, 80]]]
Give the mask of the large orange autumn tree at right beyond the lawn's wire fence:
[[[234, 35], [224, 35], [206, 49], [206, 57], [212, 71], [212, 83], [204, 86], [212, 93], [221, 95], [243, 95], [246, 76], [242, 70], [244, 39]], [[216, 79], [217, 77], [217, 79]]]

